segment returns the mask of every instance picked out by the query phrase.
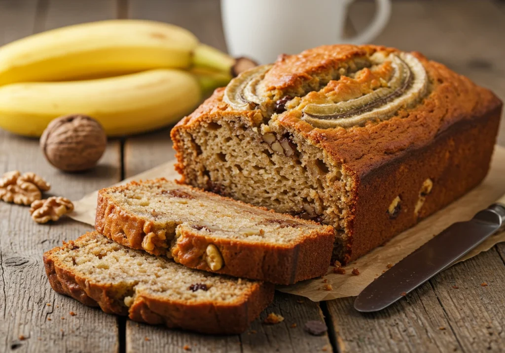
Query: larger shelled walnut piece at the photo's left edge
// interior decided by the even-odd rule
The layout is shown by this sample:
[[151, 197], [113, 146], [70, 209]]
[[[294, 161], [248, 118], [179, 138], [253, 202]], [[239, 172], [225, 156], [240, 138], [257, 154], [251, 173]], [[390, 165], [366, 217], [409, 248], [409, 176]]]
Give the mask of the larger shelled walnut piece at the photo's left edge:
[[28, 172], [21, 175], [19, 170], [5, 173], [0, 179], [0, 199], [18, 205], [30, 205], [42, 198], [42, 191], [51, 185], [37, 174]]

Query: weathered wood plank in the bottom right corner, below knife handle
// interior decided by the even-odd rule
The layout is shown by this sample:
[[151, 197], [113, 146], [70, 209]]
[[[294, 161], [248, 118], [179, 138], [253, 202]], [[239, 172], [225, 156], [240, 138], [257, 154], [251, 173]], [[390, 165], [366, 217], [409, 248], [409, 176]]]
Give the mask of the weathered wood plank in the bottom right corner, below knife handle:
[[464, 351], [505, 348], [505, 265], [495, 248], [430, 282], [448, 319], [446, 328], [456, 334]]

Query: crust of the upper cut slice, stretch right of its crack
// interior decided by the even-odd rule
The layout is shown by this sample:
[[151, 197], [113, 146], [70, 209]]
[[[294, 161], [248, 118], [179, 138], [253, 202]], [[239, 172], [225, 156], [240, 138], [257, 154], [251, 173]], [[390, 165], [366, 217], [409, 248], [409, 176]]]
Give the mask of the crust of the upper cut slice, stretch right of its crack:
[[[184, 226], [179, 231], [179, 238], [172, 250], [178, 263], [236, 277], [261, 278], [276, 284], [292, 284], [324, 275], [335, 240], [332, 229], [327, 229], [325, 233], [312, 231], [301, 243], [285, 247], [215, 239]], [[212, 271], [203, 260], [209, 244], [217, 246], [226, 264], [218, 271]]]

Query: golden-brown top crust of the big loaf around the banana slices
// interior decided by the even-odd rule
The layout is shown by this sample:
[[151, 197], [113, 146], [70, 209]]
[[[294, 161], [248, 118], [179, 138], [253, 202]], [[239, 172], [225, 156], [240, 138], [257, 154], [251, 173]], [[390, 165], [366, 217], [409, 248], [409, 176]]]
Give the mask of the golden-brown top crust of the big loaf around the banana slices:
[[[390, 52], [396, 49], [373, 45], [318, 47], [298, 55], [290, 55], [281, 63], [277, 62], [267, 73], [265, 80], [269, 83], [269, 87], [284, 88], [288, 83], [291, 85], [291, 81], [298, 82], [306, 77], [302, 70], [307, 70], [307, 73], [313, 75], [350, 58], [371, 54], [377, 50]], [[419, 148], [429, 144], [437, 134], [456, 122], [480, 116], [501, 104], [492, 92], [475, 85], [468, 78], [456, 74], [442, 64], [427, 60], [418, 52], [412, 54], [427, 70], [431, 84], [430, 94], [416, 106], [400, 109], [389, 120], [379, 123], [369, 122], [363, 127], [348, 129], [314, 128], [300, 120], [302, 112], [299, 110], [290, 110], [279, 115], [278, 124], [286, 131], [301, 134], [308, 143], [323, 149], [334, 163], [343, 163], [356, 174], [365, 175], [406, 153], [408, 148]], [[303, 58], [311, 58], [311, 61], [301, 60], [300, 55]], [[318, 60], [320, 65], [317, 65]], [[299, 64], [296, 65], [298, 61]], [[295, 69], [292, 74], [289, 73], [291, 69]], [[172, 130], [171, 137], [179, 160], [178, 171], [184, 171], [181, 164], [180, 129], [196, 128], [202, 122], [216, 121], [226, 116], [243, 118], [249, 125], [257, 120], [252, 116], [260, 114], [259, 111], [233, 110], [223, 101], [223, 94], [223, 88], [217, 89], [209, 99], [182, 119]]]

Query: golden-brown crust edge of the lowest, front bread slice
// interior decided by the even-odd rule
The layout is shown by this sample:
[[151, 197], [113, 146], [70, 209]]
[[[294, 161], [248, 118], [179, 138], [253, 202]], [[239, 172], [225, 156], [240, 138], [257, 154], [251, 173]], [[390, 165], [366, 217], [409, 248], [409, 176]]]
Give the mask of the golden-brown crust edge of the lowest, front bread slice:
[[[87, 236], [84, 234], [81, 237]], [[45, 271], [51, 287], [84, 305], [99, 306], [106, 313], [128, 316], [134, 321], [210, 334], [242, 333], [273, 300], [273, 285], [258, 282], [250, 292], [244, 293], [243, 300], [229, 305], [212, 301], [195, 305], [178, 300], [160, 300], [140, 292], [127, 308], [115, 298], [112, 287], [83, 278], [58, 261], [55, 253], [73, 245], [71, 241], [44, 253]]]

